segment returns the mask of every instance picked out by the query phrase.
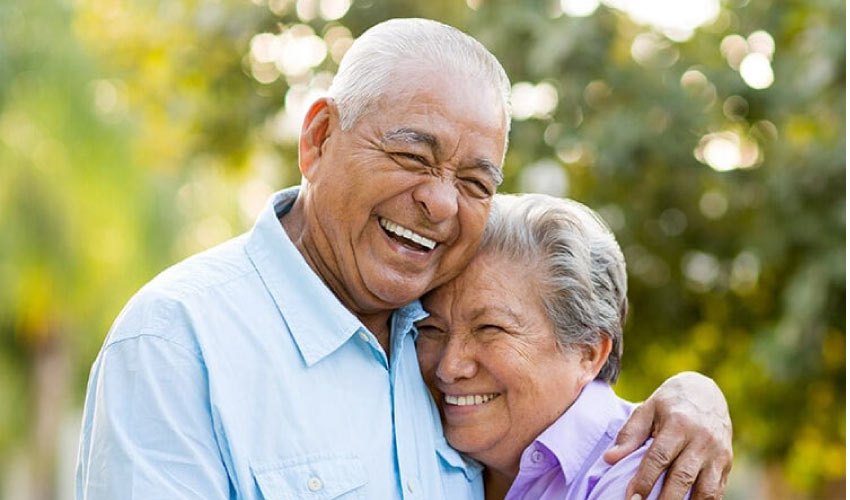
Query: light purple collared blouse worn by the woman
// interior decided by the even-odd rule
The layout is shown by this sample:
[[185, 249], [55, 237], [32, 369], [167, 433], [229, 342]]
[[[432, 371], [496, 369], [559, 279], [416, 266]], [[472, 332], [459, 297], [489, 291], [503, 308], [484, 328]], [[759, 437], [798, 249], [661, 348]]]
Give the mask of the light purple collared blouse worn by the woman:
[[[523, 451], [505, 500], [624, 499], [651, 440], [615, 465], [602, 455], [614, 445], [634, 407], [605, 382], [587, 384], [573, 405]], [[648, 499], [658, 497], [662, 482], [663, 477]]]

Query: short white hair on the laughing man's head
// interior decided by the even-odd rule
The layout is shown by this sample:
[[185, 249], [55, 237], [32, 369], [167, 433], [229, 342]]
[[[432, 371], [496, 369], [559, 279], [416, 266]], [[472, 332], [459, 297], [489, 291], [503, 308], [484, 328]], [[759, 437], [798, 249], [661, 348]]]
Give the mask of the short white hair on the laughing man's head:
[[507, 134], [511, 85], [502, 65], [478, 40], [429, 19], [384, 21], [366, 30], [348, 49], [328, 91], [339, 109], [343, 130], [353, 127], [391, 91], [393, 72], [405, 64], [432, 66], [491, 86], [502, 98]]

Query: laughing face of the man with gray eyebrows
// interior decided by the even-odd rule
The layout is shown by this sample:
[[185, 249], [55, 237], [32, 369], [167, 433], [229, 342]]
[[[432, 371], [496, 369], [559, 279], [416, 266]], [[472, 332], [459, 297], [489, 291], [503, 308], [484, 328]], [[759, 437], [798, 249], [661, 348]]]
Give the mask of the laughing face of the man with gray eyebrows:
[[397, 77], [350, 130], [332, 122], [310, 176], [323, 265], [356, 313], [448, 281], [483, 234], [501, 179], [501, 99], [490, 85], [437, 73]]

